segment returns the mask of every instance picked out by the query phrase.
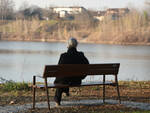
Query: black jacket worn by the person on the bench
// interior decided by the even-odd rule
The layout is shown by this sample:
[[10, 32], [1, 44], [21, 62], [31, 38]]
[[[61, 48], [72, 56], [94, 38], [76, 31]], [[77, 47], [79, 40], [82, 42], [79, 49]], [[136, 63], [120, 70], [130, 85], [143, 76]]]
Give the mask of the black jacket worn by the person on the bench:
[[[58, 64], [89, 64], [89, 61], [83, 52], [78, 52], [76, 48], [70, 48], [66, 53], [61, 54]], [[54, 83], [81, 84], [81, 80], [85, 77], [85, 75], [81, 77], [56, 77]]]

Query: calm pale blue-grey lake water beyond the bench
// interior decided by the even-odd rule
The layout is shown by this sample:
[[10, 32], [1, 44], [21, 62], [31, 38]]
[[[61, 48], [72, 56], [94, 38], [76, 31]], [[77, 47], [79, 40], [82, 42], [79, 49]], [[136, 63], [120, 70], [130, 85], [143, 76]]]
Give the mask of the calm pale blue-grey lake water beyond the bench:
[[[119, 80], [150, 80], [150, 46], [79, 44], [78, 50], [90, 63], [120, 63]], [[65, 51], [66, 43], [0, 41], [0, 77], [32, 82]]]

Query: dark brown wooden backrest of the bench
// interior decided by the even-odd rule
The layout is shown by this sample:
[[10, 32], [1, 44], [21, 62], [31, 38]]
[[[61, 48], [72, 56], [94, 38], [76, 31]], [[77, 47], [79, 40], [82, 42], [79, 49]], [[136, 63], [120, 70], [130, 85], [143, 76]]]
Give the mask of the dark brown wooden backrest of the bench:
[[119, 63], [46, 65], [43, 77], [72, 77], [81, 75], [117, 75]]

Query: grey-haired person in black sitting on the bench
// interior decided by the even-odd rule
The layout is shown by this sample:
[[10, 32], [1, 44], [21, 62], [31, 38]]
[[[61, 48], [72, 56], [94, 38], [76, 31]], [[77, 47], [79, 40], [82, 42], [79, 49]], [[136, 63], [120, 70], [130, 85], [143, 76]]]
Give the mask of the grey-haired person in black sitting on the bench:
[[[84, 53], [77, 51], [77, 45], [77, 40], [75, 38], [70, 38], [67, 46], [68, 51], [61, 54], [58, 64], [89, 64], [89, 61], [84, 56]], [[80, 85], [82, 79], [85, 77], [86, 75], [80, 77], [56, 77], [54, 84]], [[54, 97], [56, 106], [60, 105], [63, 92], [69, 96], [69, 88], [56, 88]]]

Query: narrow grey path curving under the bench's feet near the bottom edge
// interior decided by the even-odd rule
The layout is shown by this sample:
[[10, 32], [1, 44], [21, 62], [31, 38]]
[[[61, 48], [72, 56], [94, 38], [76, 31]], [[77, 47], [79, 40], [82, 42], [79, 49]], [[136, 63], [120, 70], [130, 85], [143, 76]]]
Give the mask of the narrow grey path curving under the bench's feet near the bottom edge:
[[[118, 104], [117, 100], [106, 100], [108, 104]], [[70, 106], [78, 106], [78, 105], [102, 105], [102, 100], [78, 100], [78, 101], [62, 101], [61, 107], [70, 107]], [[150, 110], [150, 103], [141, 103], [141, 102], [130, 102], [130, 101], [122, 101], [122, 105], [126, 107], [139, 108], [142, 110]], [[51, 108], [56, 107], [55, 102], [50, 102]], [[36, 103], [37, 108], [47, 108], [46, 102]], [[8, 106], [0, 106], [0, 113], [21, 113], [21, 111], [25, 111], [32, 108], [32, 104], [24, 104], [24, 105], [8, 105]]]

